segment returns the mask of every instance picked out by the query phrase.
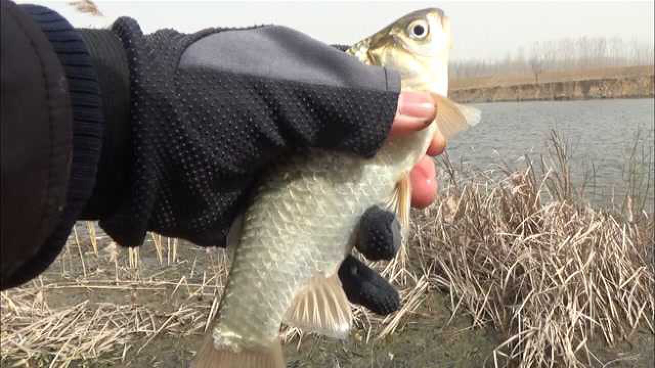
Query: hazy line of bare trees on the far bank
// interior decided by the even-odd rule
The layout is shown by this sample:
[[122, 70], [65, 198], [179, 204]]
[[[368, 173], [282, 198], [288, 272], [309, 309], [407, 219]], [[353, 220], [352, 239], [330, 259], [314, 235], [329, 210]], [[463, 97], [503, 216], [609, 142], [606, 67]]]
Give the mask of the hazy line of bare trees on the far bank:
[[529, 49], [521, 46], [501, 60], [454, 60], [450, 75], [454, 79], [526, 73], [536, 82], [544, 71], [572, 71], [601, 67], [653, 65], [653, 45], [620, 37], [565, 38], [538, 41]]

